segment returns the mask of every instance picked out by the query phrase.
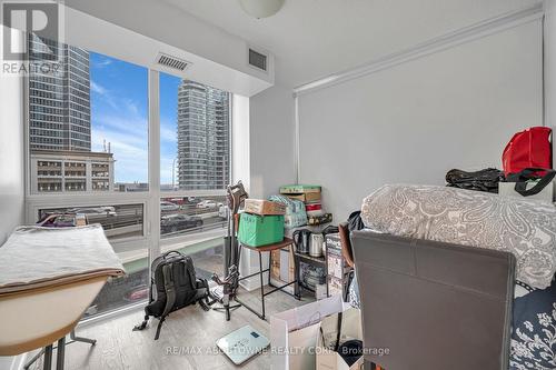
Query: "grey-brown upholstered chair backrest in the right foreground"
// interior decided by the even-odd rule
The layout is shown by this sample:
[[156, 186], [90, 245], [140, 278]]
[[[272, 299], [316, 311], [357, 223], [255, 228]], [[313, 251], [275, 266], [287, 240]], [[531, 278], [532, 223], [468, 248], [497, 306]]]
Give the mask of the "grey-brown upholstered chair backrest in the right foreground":
[[366, 360], [388, 370], [508, 369], [513, 254], [370, 231], [351, 242]]

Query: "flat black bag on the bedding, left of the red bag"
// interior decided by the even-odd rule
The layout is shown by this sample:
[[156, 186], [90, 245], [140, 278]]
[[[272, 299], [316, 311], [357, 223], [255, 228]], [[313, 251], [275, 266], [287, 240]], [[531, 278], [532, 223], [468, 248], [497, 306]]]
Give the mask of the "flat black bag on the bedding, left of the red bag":
[[448, 187], [498, 192], [498, 182], [504, 181], [504, 172], [495, 168], [487, 168], [476, 172], [466, 172], [461, 170], [449, 170], [446, 173]]

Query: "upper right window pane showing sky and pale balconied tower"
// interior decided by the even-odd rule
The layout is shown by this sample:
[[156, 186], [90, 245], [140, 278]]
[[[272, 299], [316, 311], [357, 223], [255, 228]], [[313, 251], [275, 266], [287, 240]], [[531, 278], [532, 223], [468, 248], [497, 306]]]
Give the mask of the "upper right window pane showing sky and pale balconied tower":
[[230, 178], [230, 93], [160, 73], [160, 189], [222, 190]]

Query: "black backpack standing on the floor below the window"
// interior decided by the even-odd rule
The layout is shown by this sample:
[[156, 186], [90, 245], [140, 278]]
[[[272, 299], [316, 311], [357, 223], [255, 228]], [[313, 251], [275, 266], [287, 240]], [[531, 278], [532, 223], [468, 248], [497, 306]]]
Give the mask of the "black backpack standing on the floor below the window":
[[133, 330], [143, 330], [149, 317], [159, 319], [157, 334], [166, 317], [183, 307], [199, 304], [209, 310], [209, 286], [207, 280], [197, 279], [193, 261], [189, 256], [178, 251], [169, 251], [152, 261], [149, 289], [149, 303], [145, 308], [145, 321]]

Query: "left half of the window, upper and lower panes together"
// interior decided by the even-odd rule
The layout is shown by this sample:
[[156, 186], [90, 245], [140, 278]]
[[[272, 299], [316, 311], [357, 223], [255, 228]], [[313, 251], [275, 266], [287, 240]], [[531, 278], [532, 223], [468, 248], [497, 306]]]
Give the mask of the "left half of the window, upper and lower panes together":
[[58, 68], [28, 79], [28, 221], [68, 226], [79, 214], [102, 226], [127, 274], [103, 287], [91, 316], [148, 293], [148, 69], [47, 40], [54, 60], [42, 42], [31, 36], [30, 59]]

